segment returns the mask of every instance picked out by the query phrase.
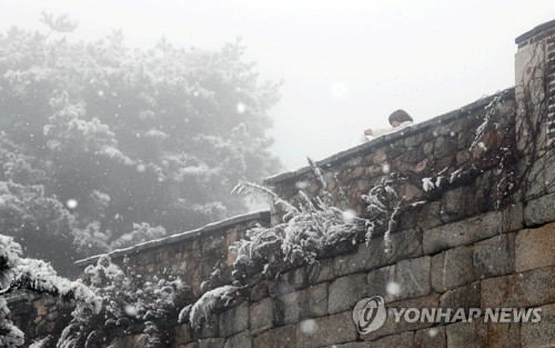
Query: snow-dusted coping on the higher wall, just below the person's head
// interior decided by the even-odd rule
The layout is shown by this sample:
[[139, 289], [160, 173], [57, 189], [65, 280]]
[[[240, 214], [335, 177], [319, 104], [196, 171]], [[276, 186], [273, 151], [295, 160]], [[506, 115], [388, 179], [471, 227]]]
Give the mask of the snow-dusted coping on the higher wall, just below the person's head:
[[[555, 23], [555, 21], [554, 21], [554, 23]], [[421, 132], [423, 132], [423, 131], [425, 131], [434, 126], [447, 123], [447, 122], [451, 122], [453, 120], [464, 118], [466, 115], [471, 113], [472, 111], [474, 111], [476, 109], [484, 108], [485, 106], [490, 105], [498, 96], [503, 96], [503, 98], [501, 100], [514, 99], [515, 88], [514, 87], [507, 88], [507, 89], [505, 89], [501, 92], [497, 92], [493, 96], [478, 99], [470, 105], [462, 107], [458, 110], [453, 110], [451, 112], [434, 117], [430, 120], [426, 120], [426, 121], [423, 121], [423, 122], [420, 122], [420, 123], [416, 123], [413, 126], [405, 127], [402, 130], [380, 136], [380, 137], [374, 138], [367, 142], [361, 143], [356, 147], [353, 147], [351, 149], [341, 151], [341, 152], [335, 153], [331, 157], [327, 157], [327, 158], [324, 158], [320, 161], [316, 161], [315, 165], [316, 165], [316, 167], [320, 167], [320, 168], [330, 167], [330, 166], [333, 166], [337, 162], [346, 161], [353, 157], [360, 156], [361, 153], [369, 153], [370, 149], [376, 149], [379, 147], [383, 147], [384, 145], [395, 142], [400, 139], [405, 139], [405, 138], [412, 137], [416, 133], [421, 133]], [[305, 175], [310, 171], [312, 171], [312, 167], [310, 167], [310, 166], [302, 167], [297, 170], [281, 172], [281, 173], [268, 177], [263, 180], [263, 183], [268, 185], [268, 186], [275, 186], [279, 182], [300, 177], [300, 176]]]

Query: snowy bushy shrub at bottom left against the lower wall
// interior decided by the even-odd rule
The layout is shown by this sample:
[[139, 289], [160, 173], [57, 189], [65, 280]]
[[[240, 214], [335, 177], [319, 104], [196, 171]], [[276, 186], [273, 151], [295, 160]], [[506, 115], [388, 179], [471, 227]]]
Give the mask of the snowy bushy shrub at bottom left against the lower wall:
[[[180, 279], [141, 281], [128, 260], [123, 269], [102, 256], [95, 266], [84, 270], [84, 282], [102, 300], [99, 314], [73, 312], [73, 320], [63, 330], [59, 347], [84, 347], [107, 341], [118, 330], [139, 328], [149, 338], [149, 347], [159, 347], [164, 326], [178, 318], [186, 287]], [[170, 319], [170, 320], [169, 320]], [[157, 346], [158, 345], [158, 346]]]

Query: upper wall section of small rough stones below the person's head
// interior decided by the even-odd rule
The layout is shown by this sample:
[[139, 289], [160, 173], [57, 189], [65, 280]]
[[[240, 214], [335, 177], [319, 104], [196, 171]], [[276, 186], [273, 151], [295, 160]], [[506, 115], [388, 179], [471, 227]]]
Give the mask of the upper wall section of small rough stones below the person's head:
[[[476, 136], [486, 116], [497, 126]], [[417, 208], [418, 213], [401, 221], [402, 229], [453, 222], [512, 201], [493, 195], [505, 175], [500, 171], [500, 151], [515, 141], [515, 116], [514, 90], [509, 89], [319, 161], [315, 165], [323, 180], [306, 167], [269, 178], [265, 183], [294, 203], [299, 203], [299, 188], [312, 197], [322, 197], [327, 190], [334, 206], [365, 218], [363, 195], [397, 173], [397, 196], [406, 203], [426, 202]], [[435, 183], [440, 177], [438, 188], [424, 189], [423, 179]], [[280, 221], [282, 215], [276, 207], [273, 222]], [[417, 221], [418, 217], [423, 221]]]

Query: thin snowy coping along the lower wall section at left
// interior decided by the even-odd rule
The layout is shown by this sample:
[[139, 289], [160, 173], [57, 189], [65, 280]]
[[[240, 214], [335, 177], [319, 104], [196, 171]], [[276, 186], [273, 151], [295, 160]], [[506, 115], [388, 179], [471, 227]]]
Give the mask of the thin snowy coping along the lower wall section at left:
[[168, 237], [164, 237], [161, 239], [154, 239], [154, 240], [141, 242], [141, 243], [134, 245], [132, 247], [124, 248], [124, 249], [117, 249], [117, 250], [113, 250], [113, 251], [108, 252], [108, 253], [91, 256], [91, 257], [88, 257], [85, 259], [78, 260], [73, 265], [77, 267], [84, 267], [88, 265], [92, 265], [92, 264], [97, 262], [97, 260], [102, 256], [109, 256], [111, 259], [122, 258], [125, 255], [137, 253], [139, 251], [143, 251], [147, 249], [153, 249], [153, 248], [157, 248], [160, 246], [167, 246], [167, 245], [171, 245], [174, 242], [195, 239], [198, 237], [206, 237], [206, 236], [210, 236], [210, 235], [214, 233], [215, 231], [219, 231], [223, 228], [232, 227], [232, 226], [238, 225], [238, 223], [249, 222], [252, 220], [265, 220], [265, 221], [270, 222], [270, 211], [269, 210], [260, 210], [260, 211], [254, 211], [254, 212], [234, 216], [232, 218], [216, 221], [216, 222], [212, 222], [212, 223], [205, 225], [201, 228], [193, 229], [190, 231], [171, 235], [171, 236], [168, 236]]

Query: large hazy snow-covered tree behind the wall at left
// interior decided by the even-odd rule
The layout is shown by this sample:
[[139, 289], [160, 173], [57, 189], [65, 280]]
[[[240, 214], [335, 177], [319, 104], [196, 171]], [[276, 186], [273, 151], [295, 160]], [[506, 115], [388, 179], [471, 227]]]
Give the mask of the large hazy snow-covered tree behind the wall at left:
[[[208, 51], [161, 40], [139, 50], [114, 31], [71, 43], [63, 36], [75, 23], [49, 14], [42, 21], [47, 33], [0, 34], [0, 182], [42, 186], [49, 215], [73, 220], [68, 233], [41, 228], [44, 238], [63, 235], [87, 256], [109, 249], [133, 223], [179, 232], [244, 212], [233, 186], [279, 167], [266, 135], [279, 86], [260, 81], [240, 42]], [[11, 195], [0, 216], [58, 221], [14, 212], [26, 197]], [[31, 248], [33, 227], [21, 225], [14, 237], [51, 259]]]

